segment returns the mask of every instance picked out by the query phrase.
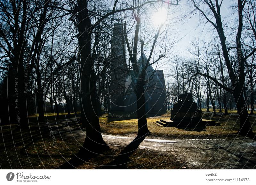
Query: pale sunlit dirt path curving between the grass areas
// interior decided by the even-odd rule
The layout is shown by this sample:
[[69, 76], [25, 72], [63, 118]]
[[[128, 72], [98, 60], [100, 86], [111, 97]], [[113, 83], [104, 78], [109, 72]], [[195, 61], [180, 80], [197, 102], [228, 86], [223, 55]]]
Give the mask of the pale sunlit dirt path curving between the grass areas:
[[[74, 121], [74, 120], [69, 120]], [[59, 122], [54, 134], [65, 139], [84, 141], [85, 129]], [[110, 146], [127, 146], [136, 135], [102, 134]], [[168, 139], [150, 135], [139, 148], [146, 151], [173, 155], [189, 169], [254, 169], [256, 168], [256, 141], [249, 138], [233, 139]]]

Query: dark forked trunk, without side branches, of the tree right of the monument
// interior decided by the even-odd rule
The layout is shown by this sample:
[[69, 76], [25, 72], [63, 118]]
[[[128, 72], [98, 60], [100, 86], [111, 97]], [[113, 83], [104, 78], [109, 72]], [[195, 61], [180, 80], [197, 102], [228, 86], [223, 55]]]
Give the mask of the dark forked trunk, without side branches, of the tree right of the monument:
[[[237, 12], [238, 12], [238, 27], [237, 27], [237, 34], [236, 34], [236, 54], [237, 54], [237, 61], [239, 68], [237, 68], [237, 73], [235, 73], [234, 68], [232, 67], [231, 60], [229, 58], [229, 53], [228, 53], [228, 48], [226, 45], [226, 36], [224, 33], [223, 29], [223, 22], [221, 20], [220, 16], [220, 5], [219, 1], [215, 1], [216, 5], [214, 6], [212, 4], [212, 1], [209, 3], [208, 1], [205, 3], [207, 6], [210, 6], [211, 11], [214, 13], [214, 18], [216, 20], [216, 24], [213, 22], [210, 22], [212, 25], [214, 25], [216, 31], [218, 32], [220, 42], [221, 42], [221, 49], [223, 53], [223, 57], [225, 59], [225, 63], [228, 69], [228, 75], [229, 78], [232, 82], [232, 89], [230, 89], [230, 92], [233, 93], [233, 96], [236, 101], [236, 107], [237, 111], [239, 113], [239, 118], [240, 118], [240, 134], [247, 135], [249, 134], [250, 136], [253, 136], [252, 133], [252, 128], [250, 125], [250, 121], [248, 119], [248, 112], [242, 111], [243, 106], [245, 104], [244, 97], [241, 96], [243, 93], [243, 88], [244, 88], [244, 82], [245, 82], [245, 58], [242, 53], [242, 47], [241, 47], [241, 35], [242, 35], [242, 30], [243, 30], [243, 9], [244, 5], [246, 4], [246, 1], [243, 0], [237, 0]], [[196, 7], [196, 5], [195, 5]], [[198, 11], [202, 10], [198, 7], [196, 7]], [[204, 17], [207, 17], [205, 14], [203, 14]]]

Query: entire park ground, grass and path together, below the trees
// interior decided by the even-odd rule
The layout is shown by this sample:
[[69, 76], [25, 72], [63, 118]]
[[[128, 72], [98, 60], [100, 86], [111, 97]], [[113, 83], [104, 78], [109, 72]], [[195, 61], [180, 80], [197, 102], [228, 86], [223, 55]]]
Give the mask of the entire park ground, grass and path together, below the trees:
[[[102, 137], [110, 149], [85, 161], [74, 163], [83, 145], [86, 129], [79, 117], [63, 114], [59, 120], [48, 114], [44, 123], [31, 116], [29, 130], [15, 130], [15, 125], [1, 125], [0, 165], [2, 169], [254, 169], [256, 142], [236, 135], [239, 129], [235, 111], [228, 116], [205, 112], [203, 118], [220, 126], [196, 128], [160, 127], [156, 120], [170, 113], [148, 116], [151, 132], [129, 155], [126, 146], [137, 136], [134, 115], [118, 121], [107, 114], [100, 117]], [[74, 116], [74, 115], [73, 115]], [[79, 116], [79, 115], [78, 115]], [[250, 116], [253, 131], [256, 116]], [[52, 131], [52, 132], [51, 132]], [[120, 154], [121, 153], [121, 154]]]

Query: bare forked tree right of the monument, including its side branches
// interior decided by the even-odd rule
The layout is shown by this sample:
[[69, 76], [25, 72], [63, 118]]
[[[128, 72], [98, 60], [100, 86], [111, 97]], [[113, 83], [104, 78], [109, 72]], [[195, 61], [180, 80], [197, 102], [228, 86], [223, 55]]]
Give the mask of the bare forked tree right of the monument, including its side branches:
[[197, 73], [197, 75], [203, 75], [211, 79], [217, 85], [219, 85], [223, 89], [233, 94], [236, 101], [239, 118], [240, 118], [240, 130], [238, 131], [238, 133], [253, 137], [254, 135], [252, 133], [250, 121], [248, 119], [248, 112], [247, 110], [244, 110], [245, 100], [244, 100], [244, 97], [241, 96], [241, 92], [243, 92], [243, 89], [244, 89], [244, 81], [245, 81], [245, 75], [244, 75], [245, 61], [256, 51], [256, 48], [254, 48], [252, 52], [249, 53], [248, 55], [244, 55], [242, 51], [241, 36], [242, 36], [242, 28], [243, 28], [243, 11], [244, 11], [244, 6], [246, 4], [246, 0], [237, 1], [238, 24], [237, 24], [237, 29], [236, 29], [237, 32], [236, 32], [236, 39], [235, 39], [236, 45], [232, 47], [236, 49], [236, 60], [238, 62], [237, 71], [235, 71], [234, 67], [232, 66], [232, 60], [230, 60], [229, 53], [228, 53], [229, 50], [232, 48], [228, 48], [227, 46], [227, 40], [226, 40], [224, 28], [223, 28], [225, 24], [223, 23], [221, 14], [220, 14], [222, 1], [219, 3], [218, 0], [215, 0], [215, 1], [192, 0], [192, 2], [195, 8], [193, 12], [202, 15], [202, 17], [206, 19], [206, 21], [209, 22], [218, 33], [218, 36], [220, 38], [220, 43], [221, 43], [222, 54], [226, 62], [230, 81], [232, 82], [232, 89], [224, 86], [222, 83], [216, 81], [214, 78], [212, 78], [209, 75], [202, 74], [202, 73]]

